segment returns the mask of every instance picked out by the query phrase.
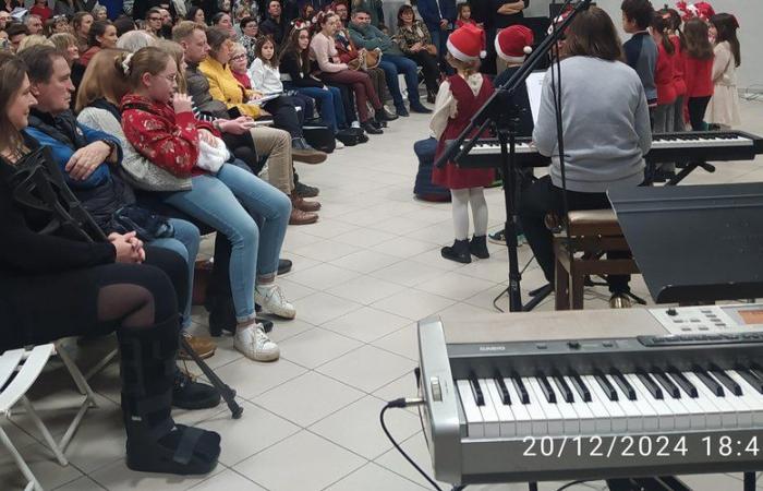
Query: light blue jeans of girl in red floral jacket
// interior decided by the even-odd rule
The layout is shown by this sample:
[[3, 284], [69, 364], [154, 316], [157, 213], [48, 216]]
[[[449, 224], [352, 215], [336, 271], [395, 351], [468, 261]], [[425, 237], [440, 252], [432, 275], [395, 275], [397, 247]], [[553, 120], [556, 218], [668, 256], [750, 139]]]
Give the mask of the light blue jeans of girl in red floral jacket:
[[192, 182], [191, 191], [168, 193], [165, 202], [230, 240], [229, 274], [235, 316], [239, 322], [250, 321], [254, 319], [255, 274], [272, 277], [278, 271], [291, 201], [253, 173], [230, 164], [225, 164], [217, 176], [196, 176]]

